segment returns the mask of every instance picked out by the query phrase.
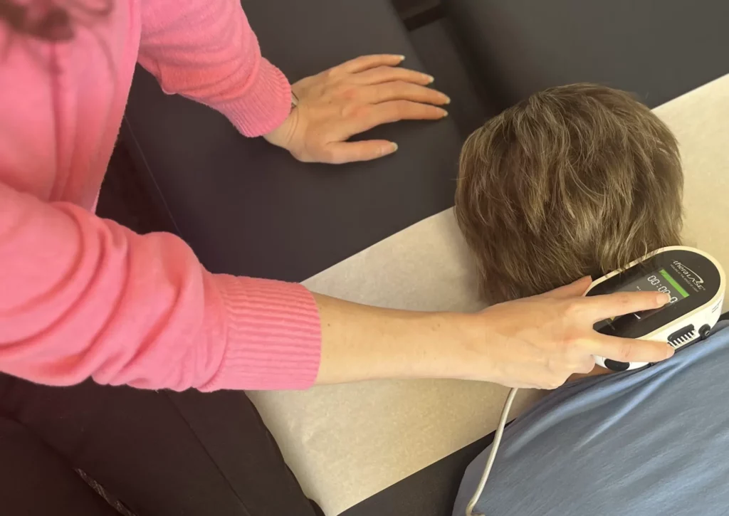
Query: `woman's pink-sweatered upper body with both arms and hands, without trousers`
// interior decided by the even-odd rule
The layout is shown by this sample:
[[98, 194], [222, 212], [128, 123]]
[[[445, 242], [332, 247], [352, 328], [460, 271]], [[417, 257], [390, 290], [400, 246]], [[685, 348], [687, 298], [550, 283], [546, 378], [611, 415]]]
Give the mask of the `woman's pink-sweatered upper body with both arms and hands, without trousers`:
[[665, 359], [666, 345], [592, 330], [665, 302], [654, 294], [580, 299], [582, 281], [478, 314], [382, 310], [212, 274], [174, 235], [94, 215], [137, 61], [245, 136], [343, 163], [397, 149], [348, 142], [356, 133], [445, 116], [448, 98], [401, 60], [357, 58], [290, 87], [238, 0], [0, 0], [0, 370], [176, 390], [383, 377], [553, 388], [593, 354]]

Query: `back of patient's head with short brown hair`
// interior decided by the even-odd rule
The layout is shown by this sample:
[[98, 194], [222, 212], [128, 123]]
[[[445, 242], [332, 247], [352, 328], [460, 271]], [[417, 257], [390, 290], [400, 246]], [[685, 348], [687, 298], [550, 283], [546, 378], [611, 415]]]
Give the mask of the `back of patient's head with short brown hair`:
[[602, 275], [679, 244], [676, 139], [628, 93], [589, 84], [531, 95], [461, 152], [456, 218], [491, 302]]

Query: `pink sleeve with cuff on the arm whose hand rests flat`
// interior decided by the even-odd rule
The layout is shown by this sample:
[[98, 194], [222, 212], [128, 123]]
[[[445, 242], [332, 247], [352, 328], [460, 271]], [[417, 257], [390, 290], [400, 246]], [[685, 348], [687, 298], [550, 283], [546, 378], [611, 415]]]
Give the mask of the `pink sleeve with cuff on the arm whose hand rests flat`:
[[141, 9], [139, 63], [166, 93], [206, 103], [246, 136], [286, 120], [289, 82], [261, 57], [239, 0], [148, 0]]

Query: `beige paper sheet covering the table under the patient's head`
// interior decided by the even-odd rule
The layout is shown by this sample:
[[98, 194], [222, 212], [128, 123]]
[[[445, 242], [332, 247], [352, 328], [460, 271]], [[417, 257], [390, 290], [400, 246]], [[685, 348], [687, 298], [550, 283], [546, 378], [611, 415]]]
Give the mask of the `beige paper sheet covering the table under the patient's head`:
[[[729, 76], [655, 109], [685, 168], [685, 239], [729, 269]], [[455, 159], [455, 157], [454, 157]], [[315, 292], [411, 310], [477, 310], [475, 272], [451, 210], [305, 281]], [[728, 308], [725, 302], [725, 310]], [[333, 516], [496, 428], [507, 389], [377, 381], [249, 393], [303, 489]], [[518, 415], [539, 397], [521, 391]]]

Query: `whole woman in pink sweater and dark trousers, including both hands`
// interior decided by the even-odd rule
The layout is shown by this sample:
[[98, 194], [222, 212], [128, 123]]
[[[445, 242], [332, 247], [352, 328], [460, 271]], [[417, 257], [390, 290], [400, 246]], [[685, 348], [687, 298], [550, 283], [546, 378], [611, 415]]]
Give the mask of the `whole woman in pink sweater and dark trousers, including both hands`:
[[8, 514], [130, 514], [123, 502], [138, 515], [313, 515], [243, 394], [21, 378], [207, 391], [386, 377], [551, 388], [590, 370], [593, 354], [670, 353], [592, 330], [600, 318], [665, 302], [652, 294], [585, 300], [580, 281], [483, 313], [382, 310], [211, 274], [174, 235], [136, 235], [98, 218], [137, 61], [166, 92], [208, 104], [299, 160], [387, 155], [392, 142], [347, 140], [385, 122], [440, 119], [448, 103], [426, 87], [431, 77], [398, 68], [396, 55], [289, 86], [261, 57], [238, 0], [0, 0]]

